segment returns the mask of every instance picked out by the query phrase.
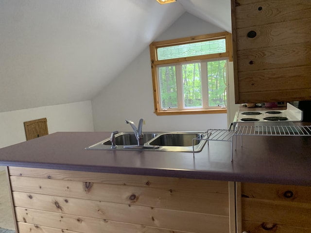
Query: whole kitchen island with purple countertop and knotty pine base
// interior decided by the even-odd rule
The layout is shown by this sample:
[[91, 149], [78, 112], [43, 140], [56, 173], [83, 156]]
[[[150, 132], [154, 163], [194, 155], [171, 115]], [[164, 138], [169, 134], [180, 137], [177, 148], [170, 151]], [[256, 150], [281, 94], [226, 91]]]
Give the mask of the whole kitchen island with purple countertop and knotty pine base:
[[[262, 225], [252, 210], [262, 212], [265, 203], [267, 211], [271, 204], [286, 206], [295, 215], [289, 218], [305, 219], [299, 222], [301, 232], [311, 229], [306, 218], [311, 217], [311, 200], [300, 195], [311, 193], [306, 187], [311, 186], [308, 136], [244, 136], [242, 147], [238, 137], [232, 162], [231, 144], [223, 141], [210, 141], [194, 157], [84, 149], [109, 136], [52, 133], [0, 149], [0, 165], [9, 167], [20, 233], [240, 233], [258, 226], [299, 232], [297, 221], [284, 231], [284, 225], [291, 225], [284, 217], [265, 219], [268, 225]], [[264, 186], [257, 190], [254, 183]], [[269, 192], [260, 196], [263, 187], [284, 190], [276, 197]]]

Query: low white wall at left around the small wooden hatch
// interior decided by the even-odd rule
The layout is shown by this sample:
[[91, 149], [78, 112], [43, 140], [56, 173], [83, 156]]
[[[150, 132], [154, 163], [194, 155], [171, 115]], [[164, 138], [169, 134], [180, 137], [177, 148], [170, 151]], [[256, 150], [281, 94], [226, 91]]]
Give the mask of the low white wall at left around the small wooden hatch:
[[94, 131], [91, 101], [0, 113], [0, 148], [26, 141], [24, 122], [47, 118], [49, 133]]

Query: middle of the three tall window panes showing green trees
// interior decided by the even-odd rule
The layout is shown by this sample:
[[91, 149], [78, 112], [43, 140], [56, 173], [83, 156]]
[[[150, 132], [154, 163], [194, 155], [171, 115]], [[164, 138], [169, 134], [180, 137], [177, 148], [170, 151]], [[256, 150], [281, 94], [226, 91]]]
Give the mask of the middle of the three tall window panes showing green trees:
[[184, 108], [202, 107], [200, 63], [182, 65]]

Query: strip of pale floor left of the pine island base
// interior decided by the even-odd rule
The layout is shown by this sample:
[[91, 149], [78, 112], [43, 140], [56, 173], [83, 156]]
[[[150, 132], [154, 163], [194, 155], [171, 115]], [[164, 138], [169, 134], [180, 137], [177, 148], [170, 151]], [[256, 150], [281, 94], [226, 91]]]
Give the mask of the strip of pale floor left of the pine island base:
[[0, 228], [15, 230], [5, 171], [0, 171]]

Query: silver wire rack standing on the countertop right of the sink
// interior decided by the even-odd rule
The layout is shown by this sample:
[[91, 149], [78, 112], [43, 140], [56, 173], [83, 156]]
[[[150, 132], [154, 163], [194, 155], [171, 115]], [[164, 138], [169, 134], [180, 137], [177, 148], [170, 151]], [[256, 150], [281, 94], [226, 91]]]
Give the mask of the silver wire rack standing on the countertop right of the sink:
[[[209, 129], [203, 135], [192, 139], [192, 149], [194, 157], [194, 141], [225, 141], [231, 143], [231, 161], [233, 160], [233, 141], [237, 148], [237, 136], [311, 136], [310, 126], [236, 126], [234, 130], [213, 130]], [[234, 138], [234, 139], [233, 139]]]

